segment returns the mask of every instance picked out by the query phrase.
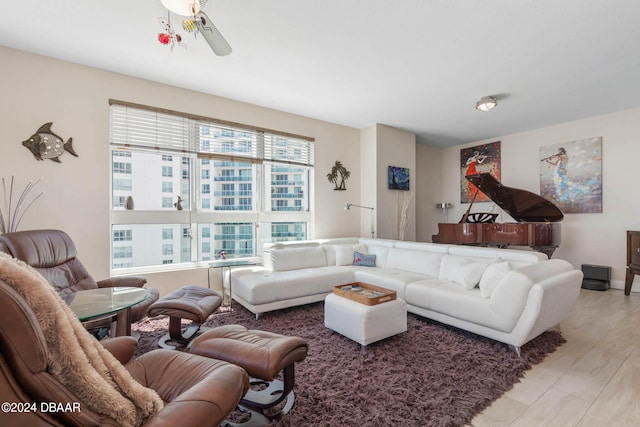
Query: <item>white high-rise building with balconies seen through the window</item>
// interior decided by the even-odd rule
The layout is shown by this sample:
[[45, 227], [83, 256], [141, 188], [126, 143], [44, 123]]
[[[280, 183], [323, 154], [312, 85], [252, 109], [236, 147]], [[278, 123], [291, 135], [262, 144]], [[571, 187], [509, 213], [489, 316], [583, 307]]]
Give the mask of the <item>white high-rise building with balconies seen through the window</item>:
[[[243, 134], [207, 129], [200, 136], [202, 150], [212, 140], [229, 153], [251, 149]], [[257, 243], [307, 238], [307, 221], [273, 215], [308, 211], [306, 167], [144, 150], [112, 153], [114, 215], [135, 210], [141, 219], [113, 225], [114, 269], [208, 261], [222, 253], [249, 257], [258, 254]]]

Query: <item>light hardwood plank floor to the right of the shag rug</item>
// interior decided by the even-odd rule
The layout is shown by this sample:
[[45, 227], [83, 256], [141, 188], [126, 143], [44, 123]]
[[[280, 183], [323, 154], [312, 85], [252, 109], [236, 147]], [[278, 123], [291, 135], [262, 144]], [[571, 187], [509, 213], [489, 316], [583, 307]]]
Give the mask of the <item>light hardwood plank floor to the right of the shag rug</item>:
[[640, 294], [582, 289], [560, 332], [567, 342], [473, 426], [640, 426]]

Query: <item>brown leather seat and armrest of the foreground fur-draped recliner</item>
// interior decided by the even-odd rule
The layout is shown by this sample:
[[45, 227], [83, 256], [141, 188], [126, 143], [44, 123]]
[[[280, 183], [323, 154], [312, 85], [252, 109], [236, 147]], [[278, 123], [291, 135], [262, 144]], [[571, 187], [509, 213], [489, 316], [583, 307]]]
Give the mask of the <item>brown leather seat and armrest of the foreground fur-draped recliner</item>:
[[165, 401], [145, 426], [219, 425], [249, 388], [249, 375], [241, 367], [175, 350], [150, 351], [126, 367]]

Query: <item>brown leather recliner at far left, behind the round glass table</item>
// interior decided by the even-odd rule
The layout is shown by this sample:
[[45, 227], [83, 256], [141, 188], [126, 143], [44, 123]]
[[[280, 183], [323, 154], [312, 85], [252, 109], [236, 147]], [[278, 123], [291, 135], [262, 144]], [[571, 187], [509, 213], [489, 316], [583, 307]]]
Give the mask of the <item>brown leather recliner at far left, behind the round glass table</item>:
[[[77, 257], [71, 237], [60, 230], [26, 230], [0, 235], [0, 251], [6, 252], [33, 267], [64, 297], [83, 289], [128, 286], [141, 288], [147, 282], [142, 276], [112, 277], [95, 281]], [[157, 289], [149, 297], [131, 307], [131, 322], [147, 315], [147, 309], [160, 296]], [[96, 326], [93, 324], [93, 326]]]

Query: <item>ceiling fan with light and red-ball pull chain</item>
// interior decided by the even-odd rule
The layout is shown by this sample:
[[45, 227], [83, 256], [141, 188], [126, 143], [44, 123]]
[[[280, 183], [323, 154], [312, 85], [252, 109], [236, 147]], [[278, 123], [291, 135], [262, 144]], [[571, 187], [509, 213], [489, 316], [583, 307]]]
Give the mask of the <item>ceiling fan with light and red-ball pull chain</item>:
[[[182, 21], [182, 28], [195, 36], [201, 34], [205, 41], [218, 56], [225, 56], [231, 53], [231, 46], [222, 36], [220, 31], [213, 25], [209, 16], [202, 10], [207, 0], [160, 0], [164, 7], [176, 15], [185, 16]], [[171, 44], [171, 48], [177, 43], [182, 43], [180, 34], [177, 34], [171, 27], [169, 19], [160, 18], [160, 23], [165, 27], [165, 33], [158, 35], [158, 40], [162, 44]]]

